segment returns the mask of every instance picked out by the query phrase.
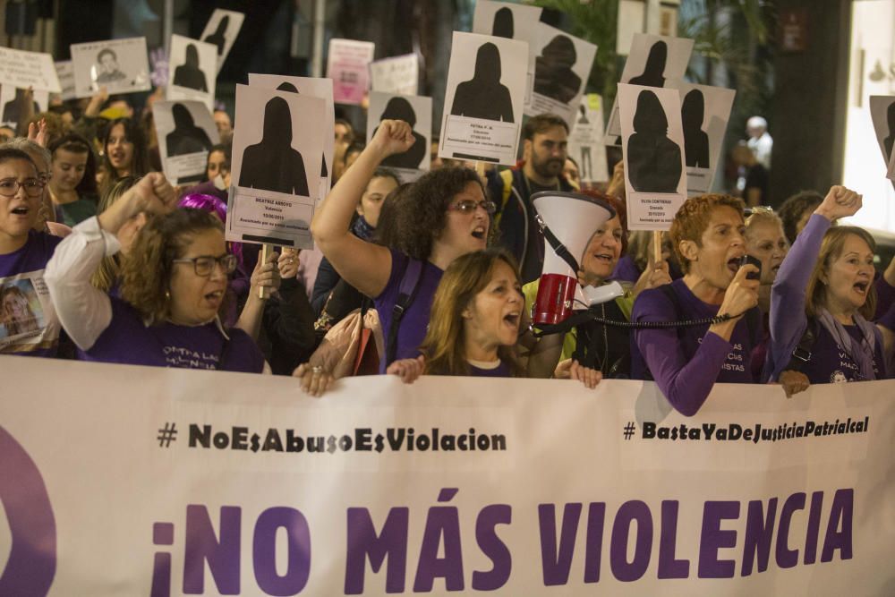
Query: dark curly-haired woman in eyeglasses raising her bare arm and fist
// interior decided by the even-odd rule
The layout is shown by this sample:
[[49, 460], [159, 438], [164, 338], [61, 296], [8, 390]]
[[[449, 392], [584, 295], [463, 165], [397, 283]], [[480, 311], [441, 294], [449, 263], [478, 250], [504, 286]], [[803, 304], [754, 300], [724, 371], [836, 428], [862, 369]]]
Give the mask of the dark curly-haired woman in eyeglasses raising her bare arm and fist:
[[[383, 159], [409, 149], [413, 142], [409, 124], [382, 121], [366, 149], [320, 204], [311, 223], [311, 234], [339, 274], [362, 294], [373, 298], [387, 338], [380, 371], [385, 371], [395, 359], [415, 358], [419, 354], [432, 297], [444, 270], [457, 257], [485, 248], [495, 209], [486, 200], [482, 181], [473, 170], [437, 170], [423, 175], [408, 189], [403, 203], [408, 208], [396, 214], [397, 248], [370, 243], [352, 234], [354, 209], [373, 172]], [[419, 277], [408, 280], [416, 265], [421, 267]], [[415, 282], [411, 285], [414, 288], [402, 293], [402, 282], [405, 286]], [[396, 332], [392, 332], [399, 294], [413, 298], [402, 310]], [[390, 334], [394, 334], [391, 342]]]

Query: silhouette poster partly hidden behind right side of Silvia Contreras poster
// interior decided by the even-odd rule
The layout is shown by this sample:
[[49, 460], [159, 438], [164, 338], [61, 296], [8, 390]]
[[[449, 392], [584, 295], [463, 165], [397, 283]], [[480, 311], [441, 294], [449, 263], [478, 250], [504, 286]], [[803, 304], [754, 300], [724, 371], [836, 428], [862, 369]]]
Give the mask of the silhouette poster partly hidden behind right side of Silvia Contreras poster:
[[683, 81], [673, 81], [669, 88], [677, 89], [680, 95], [686, 189], [690, 194], [709, 192], [737, 92]]

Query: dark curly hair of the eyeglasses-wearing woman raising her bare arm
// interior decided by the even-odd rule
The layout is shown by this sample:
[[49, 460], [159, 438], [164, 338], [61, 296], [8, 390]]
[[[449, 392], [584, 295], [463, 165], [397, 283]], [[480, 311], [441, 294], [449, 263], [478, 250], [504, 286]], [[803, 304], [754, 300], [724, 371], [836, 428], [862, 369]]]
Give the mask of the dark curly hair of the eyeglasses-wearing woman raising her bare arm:
[[488, 196], [482, 179], [467, 167], [434, 170], [411, 184], [406, 209], [396, 214], [395, 248], [413, 259], [428, 260], [433, 241], [446, 226], [447, 206], [469, 183], [478, 184]]

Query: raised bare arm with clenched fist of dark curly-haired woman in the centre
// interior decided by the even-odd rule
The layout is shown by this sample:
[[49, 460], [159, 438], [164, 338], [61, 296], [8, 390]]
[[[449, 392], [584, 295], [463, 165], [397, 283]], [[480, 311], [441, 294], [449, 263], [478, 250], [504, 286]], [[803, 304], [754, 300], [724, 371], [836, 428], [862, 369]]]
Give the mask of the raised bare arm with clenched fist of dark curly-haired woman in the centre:
[[413, 145], [413, 130], [400, 120], [383, 120], [379, 130], [338, 183], [320, 203], [311, 235], [339, 275], [367, 296], [379, 296], [391, 274], [391, 253], [351, 233], [351, 218], [379, 163]]

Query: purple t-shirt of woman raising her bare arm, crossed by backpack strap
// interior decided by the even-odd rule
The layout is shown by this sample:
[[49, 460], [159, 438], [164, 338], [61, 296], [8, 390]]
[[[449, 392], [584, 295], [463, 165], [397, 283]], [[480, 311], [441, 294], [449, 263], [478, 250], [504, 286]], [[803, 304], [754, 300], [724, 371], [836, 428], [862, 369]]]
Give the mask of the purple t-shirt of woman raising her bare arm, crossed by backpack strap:
[[[407, 269], [410, 258], [402, 252], [389, 249], [392, 254], [392, 270], [388, 277], [388, 284], [379, 296], [373, 299], [376, 311], [379, 313], [379, 323], [382, 326], [382, 337], [388, 345], [388, 330], [391, 328], [392, 308], [397, 301], [397, 295], [401, 287], [401, 280]], [[407, 307], [404, 317], [401, 319], [401, 327], [397, 331], [395, 359], [410, 359], [420, 355], [419, 347], [422, 339], [426, 337], [426, 328], [429, 327], [429, 311], [432, 308], [432, 299], [435, 297], [435, 289], [439, 287], [444, 271], [426, 261], [420, 272], [420, 283], [416, 290], [413, 302]], [[388, 351], [388, 346], [386, 347]], [[382, 355], [379, 361], [379, 373], [386, 372], [386, 355]]]

